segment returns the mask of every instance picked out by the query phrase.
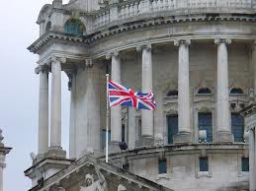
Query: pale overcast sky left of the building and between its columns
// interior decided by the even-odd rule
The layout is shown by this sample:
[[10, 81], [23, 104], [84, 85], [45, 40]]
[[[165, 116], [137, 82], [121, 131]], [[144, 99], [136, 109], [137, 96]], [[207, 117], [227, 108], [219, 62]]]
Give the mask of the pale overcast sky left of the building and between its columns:
[[[34, 72], [38, 56], [27, 47], [39, 37], [36, 21], [46, 3], [51, 0], [1, 1], [0, 128], [5, 145], [13, 148], [6, 159], [4, 191], [25, 191], [31, 187], [24, 170], [32, 164], [30, 153], [37, 154], [38, 148], [39, 77]], [[69, 93], [64, 74], [62, 79], [62, 140], [67, 150]]]

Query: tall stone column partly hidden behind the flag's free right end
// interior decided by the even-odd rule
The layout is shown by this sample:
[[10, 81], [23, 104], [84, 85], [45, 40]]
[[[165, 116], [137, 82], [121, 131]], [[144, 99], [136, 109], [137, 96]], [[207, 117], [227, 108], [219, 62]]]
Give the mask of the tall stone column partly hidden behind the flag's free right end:
[[[152, 76], [152, 47], [151, 44], [137, 47], [137, 51], [142, 51], [142, 93], [153, 92]], [[141, 139], [137, 146], [152, 146], [154, 144], [153, 111], [141, 110]]]

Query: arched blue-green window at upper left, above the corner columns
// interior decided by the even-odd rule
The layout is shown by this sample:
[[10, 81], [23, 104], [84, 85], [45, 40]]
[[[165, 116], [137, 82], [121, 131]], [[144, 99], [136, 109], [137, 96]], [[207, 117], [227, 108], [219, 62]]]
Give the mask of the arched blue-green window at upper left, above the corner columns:
[[83, 35], [83, 33], [85, 32], [85, 27], [80, 20], [70, 19], [64, 25], [64, 32]]

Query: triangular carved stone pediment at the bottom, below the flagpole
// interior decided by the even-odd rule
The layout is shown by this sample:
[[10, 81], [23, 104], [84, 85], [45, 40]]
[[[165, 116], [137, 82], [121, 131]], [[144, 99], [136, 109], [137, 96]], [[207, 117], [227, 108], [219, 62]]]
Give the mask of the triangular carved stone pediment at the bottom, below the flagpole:
[[171, 191], [92, 156], [75, 160], [30, 191]]

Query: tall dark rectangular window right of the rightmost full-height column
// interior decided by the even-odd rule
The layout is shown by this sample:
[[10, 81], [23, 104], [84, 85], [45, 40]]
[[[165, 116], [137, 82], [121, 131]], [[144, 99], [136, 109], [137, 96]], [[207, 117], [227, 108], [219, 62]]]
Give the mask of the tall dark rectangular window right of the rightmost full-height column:
[[244, 119], [238, 113], [231, 114], [231, 131], [234, 136], [234, 142], [243, 142]]

